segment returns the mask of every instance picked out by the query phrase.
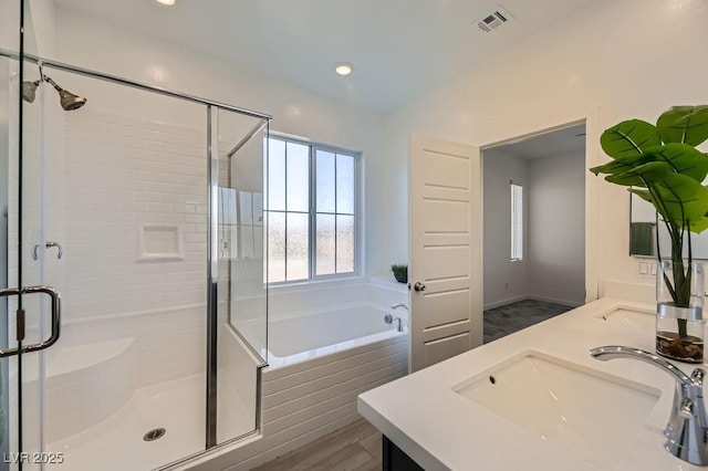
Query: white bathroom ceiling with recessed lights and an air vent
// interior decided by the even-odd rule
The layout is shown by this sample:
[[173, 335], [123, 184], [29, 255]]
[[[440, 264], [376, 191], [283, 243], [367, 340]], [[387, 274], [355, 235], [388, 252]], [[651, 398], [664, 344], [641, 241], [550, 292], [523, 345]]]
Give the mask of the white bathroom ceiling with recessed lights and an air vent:
[[[514, 19], [475, 20], [499, 0], [54, 0], [236, 66], [386, 112], [592, 0], [503, 0]], [[354, 64], [347, 77], [333, 65]]]

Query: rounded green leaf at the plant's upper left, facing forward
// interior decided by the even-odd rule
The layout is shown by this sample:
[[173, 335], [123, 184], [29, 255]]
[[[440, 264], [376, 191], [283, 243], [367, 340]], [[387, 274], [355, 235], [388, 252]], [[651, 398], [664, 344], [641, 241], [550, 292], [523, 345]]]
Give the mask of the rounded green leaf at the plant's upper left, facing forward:
[[629, 119], [606, 129], [600, 136], [602, 149], [614, 159], [644, 154], [647, 148], [662, 145], [656, 127], [642, 119]]

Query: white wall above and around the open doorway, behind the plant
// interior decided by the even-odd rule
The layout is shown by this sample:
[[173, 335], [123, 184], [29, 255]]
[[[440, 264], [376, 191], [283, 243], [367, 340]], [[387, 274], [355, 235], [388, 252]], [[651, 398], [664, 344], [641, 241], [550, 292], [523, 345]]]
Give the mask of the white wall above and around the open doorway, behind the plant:
[[[705, 103], [706, 24], [708, 3], [702, 0], [597, 0], [397, 109], [384, 125], [383, 175], [391, 181], [392, 198], [381, 219], [369, 223], [408, 224], [412, 132], [487, 145], [589, 113], [598, 116], [604, 129], [629, 117], [654, 121], [671, 105]], [[667, 61], [685, 65], [669, 66]], [[591, 154], [594, 159], [607, 159], [598, 146]], [[635, 281], [635, 264], [627, 255], [628, 196], [604, 181], [597, 186], [596, 201], [591, 201], [598, 208], [597, 231], [589, 237], [600, 248], [600, 280]], [[382, 248], [399, 260], [408, 252], [394, 233]], [[384, 272], [384, 262], [372, 270]]]

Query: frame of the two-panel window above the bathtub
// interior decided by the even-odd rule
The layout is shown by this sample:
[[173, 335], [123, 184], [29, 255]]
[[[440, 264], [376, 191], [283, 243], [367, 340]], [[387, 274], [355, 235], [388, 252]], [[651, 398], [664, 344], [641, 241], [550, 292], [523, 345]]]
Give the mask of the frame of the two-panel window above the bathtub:
[[[364, 239], [364, 234], [363, 234], [363, 214], [362, 214], [362, 209], [363, 209], [363, 153], [360, 150], [352, 150], [345, 147], [341, 147], [341, 146], [334, 146], [331, 144], [323, 144], [323, 143], [319, 143], [319, 142], [314, 142], [314, 140], [310, 140], [306, 138], [302, 138], [302, 137], [295, 137], [295, 136], [291, 136], [288, 134], [283, 134], [283, 133], [278, 133], [278, 132], [270, 132], [270, 135], [267, 137], [267, 139], [277, 139], [277, 140], [282, 140], [284, 143], [293, 143], [293, 144], [299, 144], [299, 145], [303, 145], [303, 146], [308, 146], [310, 151], [309, 151], [309, 163], [310, 163], [310, 181], [309, 181], [309, 188], [310, 188], [310, 208], [309, 208], [309, 231], [310, 231], [310, 238], [309, 238], [309, 247], [308, 247], [308, 251], [309, 251], [309, 278], [306, 279], [299, 279], [299, 280], [285, 280], [285, 281], [273, 281], [273, 282], [269, 282], [268, 281], [268, 268], [266, 266], [266, 273], [264, 273], [264, 278], [267, 283], [270, 286], [293, 286], [293, 285], [300, 285], [300, 284], [310, 284], [310, 283], [319, 283], [319, 282], [323, 282], [323, 281], [334, 281], [334, 280], [346, 280], [346, 279], [352, 279], [352, 278], [360, 278], [362, 276], [362, 266], [363, 266], [363, 260], [364, 260], [364, 243], [363, 243], [363, 239]], [[266, 146], [266, 148], [270, 149], [270, 144], [268, 144]], [[341, 154], [341, 155], [346, 155], [346, 156], [351, 156], [354, 158], [354, 270], [352, 272], [348, 273], [331, 273], [331, 274], [322, 274], [322, 275], [317, 275], [316, 274], [316, 201], [317, 201], [317, 193], [316, 193], [316, 151], [317, 150], [322, 150], [322, 151], [329, 151], [329, 153], [334, 153], [334, 154]], [[266, 159], [266, 168], [264, 168], [264, 175], [266, 175], [266, 184], [264, 184], [264, 188], [266, 191], [268, 191], [268, 159]], [[288, 176], [285, 175], [285, 179], [288, 178]], [[336, 188], [336, 187], [335, 187]], [[270, 203], [270, 202], [269, 202]], [[269, 213], [268, 208], [263, 208], [263, 212], [266, 214]], [[273, 212], [287, 212], [287, 211], [273, 211]], [[264, 234], [268, 234], [268, 229], [263, 231]], [[268, 254], [268, 239], [266, 240], [266, 252]], [[287, 254], [285, 254], [287, 257]], [[288, 260], [285, 259], [285, 265], [288, 263]], [[288, 273], [287, 269], [285, 269], [285, 274]]]

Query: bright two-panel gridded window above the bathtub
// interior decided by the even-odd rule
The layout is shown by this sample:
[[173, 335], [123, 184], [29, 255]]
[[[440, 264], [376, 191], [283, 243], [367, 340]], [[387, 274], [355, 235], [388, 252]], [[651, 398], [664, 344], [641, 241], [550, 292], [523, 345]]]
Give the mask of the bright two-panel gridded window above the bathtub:
[[355, 272], [356, 160], [356, 153], [269, 138], [269, 282]]

